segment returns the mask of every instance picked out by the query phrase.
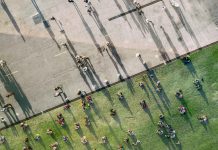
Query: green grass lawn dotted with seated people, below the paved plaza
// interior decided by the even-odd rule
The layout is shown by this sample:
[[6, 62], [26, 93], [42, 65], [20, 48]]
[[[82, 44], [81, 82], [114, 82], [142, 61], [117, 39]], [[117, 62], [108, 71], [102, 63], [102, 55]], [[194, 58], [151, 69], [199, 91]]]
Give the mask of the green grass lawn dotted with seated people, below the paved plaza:
[[[218, 45], [212, 45], [199, 52], [191, 54], [192, 64], [186, 66], [180, 60], [154, 69], [154, 76], [160, 80], [163, 92], [157, 94], [154, 83], [148, 73], [137, 75], [131, 80], [118, 83], [107, 89], [92, 94], [95, 107], [82, 111], [81, 100], [71, 103], [70, 110], [58, 108], [38, 117], [28, 120], [28, 132], [24, 132], [19, 125], [1, 131], [7, 143], [0, 145], [0, 150], [21, 150], [25, 137], [29, 137], [30, 145], [34, 150], [50, 149], [49, 145], [57, 141], [59, 149], [117, 149], [122, 144], [125, 149], [146, 150], [216, 150], [218, 147]], [[194, 79], [201, 79], [203, 90], [199, 92], [193, 85]], [[143, 81], [145, 89], [138, 84]], [[184, 100], [179, 101], [175, 92], [182, 89]], [[125, 100], [118, 100], [117, 93], [121, 91]], [[144, 99], [148, 109], [144, 111], [139, 102]], [[186, 116], [181, 116], [178, 106], [181, 103], [187, 107]], [[117, 116], [110, 116], [110, 109], [117, 110]], [[66, 126], [56, 123], [56, 115], [61, 112], [66, 120]], [[163, 113], [168, 124], [176, 130], [181, 145], [174, 140], [160, 137], [156, 134], [159, 114]], [[203, 126], [197, 120], [199, 115], [206, 114], [209, 123]], [[84, 117], [88, 115], [91, 127], [84, 125]], [[81, 130], [74, 130], [74, 123], [81, 124]], [[53, 129], [54, 137], [46, 134], [48, 128]], [[141, 145], [126, 144], [123, 139], [126, 131], [132, 129]], [[42, 140], [34, 140], [40, 134]], [[65, 143], [62, 136], [69, 137]], [[85, 135], [88, 144], [83, 145], [80, 137]], [[101, 144], [101, 137], [108, 137], [108, 144]], [[130, 143], [134, 139], [130, 138]], [[177, 142], [177, 141], [176, 141]]]

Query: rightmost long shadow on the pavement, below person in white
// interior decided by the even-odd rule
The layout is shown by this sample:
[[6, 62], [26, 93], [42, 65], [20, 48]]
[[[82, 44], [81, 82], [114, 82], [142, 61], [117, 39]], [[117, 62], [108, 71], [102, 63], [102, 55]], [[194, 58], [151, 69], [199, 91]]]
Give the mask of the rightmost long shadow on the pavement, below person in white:
[[201, 45], [200, 45], [194, 31], [192, 30], [191, 26], [189, 25], [188, 21], [186, 20], [181, 8], [180, 7], [173, 7], [173, 8], [174, 8], [175, 12], [177, 13], [177, 15], [179, 16], [179, 19], [181, 20], [186, 31], [191, 35], [192, 39], [195, 41], [197, 48], [200, 48]]

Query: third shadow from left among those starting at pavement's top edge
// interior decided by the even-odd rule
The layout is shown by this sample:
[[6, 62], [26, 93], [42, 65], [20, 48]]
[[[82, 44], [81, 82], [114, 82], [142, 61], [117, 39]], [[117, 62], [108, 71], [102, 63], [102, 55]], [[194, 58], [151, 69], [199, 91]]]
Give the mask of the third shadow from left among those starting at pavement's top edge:
[[95, 44], [96, 48], [97, 48], [98, 51], [101, 53], [101, 55], [103, 55], [101, 46], [100, 46], [100, 45], [98, 44], [98, 42], [96, 41], [95, 36], [94, 36], [94, 34], [93, 34], [91, 28], [89, 27], [89, 25], [88, 25], [87, 22], [85, 21], [85, 19], [84, 19], [82, 13], [80, 12], [80, 10], [79, 10], [79, 8], [78, 8], [76, 2], [74, 2], [73, 5], [74, 5], [74, 7], [75, 7], [75, 9], [76, 9], [76, 11], [77, 11], [77, 13], [78, 13], [78, 15], [80, 16], [80, 19], [82, 20], [83, 25], [84, 25], [85, 28], [86, 28], [86, 31], [89, 33], [89, 35], [90, 35], [90, 37], [91, 37], [93, 43]]

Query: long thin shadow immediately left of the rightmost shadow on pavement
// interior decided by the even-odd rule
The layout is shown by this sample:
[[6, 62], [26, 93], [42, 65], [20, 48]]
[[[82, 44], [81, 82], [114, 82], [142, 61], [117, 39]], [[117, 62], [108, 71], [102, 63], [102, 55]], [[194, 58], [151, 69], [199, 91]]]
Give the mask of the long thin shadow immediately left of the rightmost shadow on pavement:
[[[165, 5], [165, 4], [164, 4]], [[183, 48], [185, 49], [186, 53], [189, 53], [189, 49], [188, 49], [188, 46], [186, 45], [185, 41], [184, 41], [184, 38], [182, 36], [182, 33], [180, 32], [173, 16], [170, 14], [170, 11], [168, 10], [168, 8], [166, 7], [165, 9], [165, 13], [167, 14], [168, 18], [170, 19], [171, 21], [171, 24], [173, 25], [173, 28], [178, 36], [178, 40], [181, 42], [181, 45], [183, 46]]]

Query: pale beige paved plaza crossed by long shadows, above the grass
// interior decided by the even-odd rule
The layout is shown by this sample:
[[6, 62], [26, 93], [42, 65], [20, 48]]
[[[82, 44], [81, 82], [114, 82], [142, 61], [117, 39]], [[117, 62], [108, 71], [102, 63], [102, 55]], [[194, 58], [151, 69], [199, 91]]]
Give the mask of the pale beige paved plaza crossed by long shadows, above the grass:
[[[142, 15], [132, 0], [92, 0], [89, 15], [83, 0], [1, 0], [0, 100], [15, 114], [0, 116], [16, 122], [63, 103], [54, 97], [58, 85], [74, 99], [78, 89], [95, 91], [118, 74], [144, 71], [143, 63], [153, 67], [218, 41], [217, 0], [138, 2]], [[77, 55], [89, 57], [93, 70], [79, 69]]]

